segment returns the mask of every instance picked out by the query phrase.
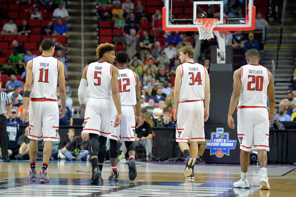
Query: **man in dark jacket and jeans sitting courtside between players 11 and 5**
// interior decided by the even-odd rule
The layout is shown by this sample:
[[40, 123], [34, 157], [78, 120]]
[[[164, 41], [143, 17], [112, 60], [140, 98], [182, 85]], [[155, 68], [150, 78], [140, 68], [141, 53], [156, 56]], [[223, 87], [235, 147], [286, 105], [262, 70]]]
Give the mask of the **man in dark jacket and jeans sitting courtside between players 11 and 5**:
[[73, 137], [73, 139], [61, 149], [61, 153], [66, 156], [65, 160], [81, 161], [86, 160], [88, 149], [88, 133], [82, 133], [81, 131], [80, 136]]

